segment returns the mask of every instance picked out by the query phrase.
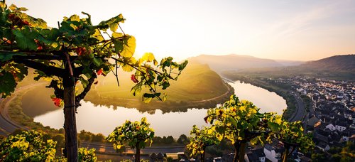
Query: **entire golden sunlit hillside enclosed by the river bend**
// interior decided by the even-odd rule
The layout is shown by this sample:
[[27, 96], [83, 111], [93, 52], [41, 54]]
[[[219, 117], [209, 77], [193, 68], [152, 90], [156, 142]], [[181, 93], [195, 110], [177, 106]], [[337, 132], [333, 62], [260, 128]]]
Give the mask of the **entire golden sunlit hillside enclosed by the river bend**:
[[92, 88], [84, 100], [114, 107], [135, 107], [142, 112], [153, 109], [175, 112], [186, 111], [187, 108], [215, 107], [234, 93], [233, 89], [208, 65], [194, 61], [189, 61], [178, 81], [171, 81], [167, 90], [158, 90], [168, 95], [165, 102], [154, 99], [149, 104], [143, 103], [141, 95], [146, 91], [136, 96], [131, 95], [131, 87], [134, 83], [130, 76], [129, 73], [119, 72], [120, 87], [117, 86], [116, 78], [111, 75], [99, 78], [99, 83]]

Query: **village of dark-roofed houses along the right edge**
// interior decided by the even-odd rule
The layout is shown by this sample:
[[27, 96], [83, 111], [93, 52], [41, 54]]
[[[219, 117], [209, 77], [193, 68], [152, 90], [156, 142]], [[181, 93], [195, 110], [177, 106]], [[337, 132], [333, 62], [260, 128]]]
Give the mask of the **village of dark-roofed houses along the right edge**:
[[342, 147], [355, 136], [355, 87], [353, 82], [299, 78], [293, 82], [300, 95], [312, 99], [305, 118], [317, 148]]

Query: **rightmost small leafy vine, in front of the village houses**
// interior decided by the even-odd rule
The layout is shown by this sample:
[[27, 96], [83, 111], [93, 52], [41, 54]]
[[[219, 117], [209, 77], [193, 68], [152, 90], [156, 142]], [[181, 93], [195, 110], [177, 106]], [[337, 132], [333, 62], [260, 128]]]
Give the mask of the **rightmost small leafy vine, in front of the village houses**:
[[303, 133], [301, 121], [288, 122], [283, 120], [281, 116], [275, 115], [268, 120], [268, 127], [272, 131], [271, 136], [283, 142], [285, 147], [283, 161], [288, 161], [288, 157], [295, 151], [295, 148], [305, 151], [315, 146], [312, 134]]

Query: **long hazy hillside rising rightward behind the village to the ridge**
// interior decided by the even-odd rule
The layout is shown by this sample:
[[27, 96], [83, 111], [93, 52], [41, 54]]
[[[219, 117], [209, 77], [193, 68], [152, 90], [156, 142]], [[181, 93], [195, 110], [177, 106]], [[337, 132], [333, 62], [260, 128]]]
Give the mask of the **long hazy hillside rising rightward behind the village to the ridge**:
[[277, 68], [250, 68], [224, 72], [223, 75], [234, 74], [253, 77], [320, 77], [331, 80], [355, 81], [355, 55], [334, 55], [321, 60], [310, 61], [302, 65]]

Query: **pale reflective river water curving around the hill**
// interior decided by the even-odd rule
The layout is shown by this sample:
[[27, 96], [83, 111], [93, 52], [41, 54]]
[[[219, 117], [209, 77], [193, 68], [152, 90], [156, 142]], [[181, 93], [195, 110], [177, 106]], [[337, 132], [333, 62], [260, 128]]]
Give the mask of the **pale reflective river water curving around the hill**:
[[[287, 107], [285, 99], [269, 92], [261, 87], [241, 83], [239, 81], [229, 82], [239, 99], [248, 99], [257, 107], [260, 112], [277, 112], [282, 114], [283, 109]], [[111, 133], [116, 126], [124, 123], [126, 120], [140, 120], [146, 117], [148, 122], [155, 130], [156, 136], [173, 136], [178, 138], [181, 134], [190, 134], [192, 125], [207, 126], [204, 123], [204, 117], [207, 109], [188, 109], [187, 112], [169, 112], [163, 114], [156, 110], [154, 114], [147, 112], [141, 113], [137, 109], [128, 109], [125, 107], [94, 106], [91, 102], [82, 102], [82, 106], [77, 109], [77, 130], [84, 129], [92, 133], [102, 133], [105, 136]], [[34, 117], [34, 121], [42, 123], [44, 126], [51, 126], [60, 129], [64, 123], [62, 109], [57, 109], [46, 114]]]

